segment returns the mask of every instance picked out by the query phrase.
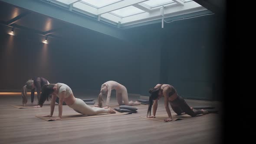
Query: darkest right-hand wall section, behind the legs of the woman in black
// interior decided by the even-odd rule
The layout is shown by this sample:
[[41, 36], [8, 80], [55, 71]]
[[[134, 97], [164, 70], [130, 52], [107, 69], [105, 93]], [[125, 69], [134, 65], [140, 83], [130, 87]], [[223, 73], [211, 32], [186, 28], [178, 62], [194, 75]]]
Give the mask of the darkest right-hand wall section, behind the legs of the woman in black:
[[[185, 98], [221, 99], [223, 23], [220, 17], [203, 16], [177, 21], [167, 27], [167, 79]], [[166, 61], [165, 59], [163, 59]]]

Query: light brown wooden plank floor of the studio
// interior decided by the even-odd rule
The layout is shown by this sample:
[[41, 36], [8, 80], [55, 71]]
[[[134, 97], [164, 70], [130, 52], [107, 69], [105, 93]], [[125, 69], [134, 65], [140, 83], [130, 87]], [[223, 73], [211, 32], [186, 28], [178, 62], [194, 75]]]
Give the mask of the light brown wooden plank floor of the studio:
[[[96, 98], [96, 94], [76, 97]], [[138, 98], [129, 96], [133, 101]], [[191, 107], [213, 105], [220, 109], [220, 113], [164, 123], [140, 118], [146, 115], [148, 108], [141, 106], [138, 113], [131, 115], [44, 121], [35, 115], [48, 115], [49, 107], [13, 108], [10, 105], [21, 104], [20, 96], [0, 96], [0, 144], [219, 144], [220, 102], [186, 101]], [[111, 105], [114, 104], [117, 102], [112, 96]], [[75, 113], [63, 106], [62, 115]], [[158, 114], [166, 114], [163, 99], [158, 103]], [[58, 107], [53, 115], [58, 115]]]

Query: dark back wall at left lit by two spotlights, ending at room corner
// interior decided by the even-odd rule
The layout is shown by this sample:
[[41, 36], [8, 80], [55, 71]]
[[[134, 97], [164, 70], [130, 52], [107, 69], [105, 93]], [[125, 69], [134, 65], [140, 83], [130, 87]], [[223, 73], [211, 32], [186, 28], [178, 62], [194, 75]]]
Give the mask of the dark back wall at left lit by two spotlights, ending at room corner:
[[0, 89], [20, 89], [27, 79], [42, 76], [73, 89], [99, 90], [102, 83], [114, 80], [130, 93], [140, 92], [133, 84], [140, 78], [138, 50], [129, 43], [98, 35], [94, 40], [49, 38], [44, 44], [33, 34], [21, 35], [15, 29], [16, 36], [11, 36], [5, 29], [0, 31]]

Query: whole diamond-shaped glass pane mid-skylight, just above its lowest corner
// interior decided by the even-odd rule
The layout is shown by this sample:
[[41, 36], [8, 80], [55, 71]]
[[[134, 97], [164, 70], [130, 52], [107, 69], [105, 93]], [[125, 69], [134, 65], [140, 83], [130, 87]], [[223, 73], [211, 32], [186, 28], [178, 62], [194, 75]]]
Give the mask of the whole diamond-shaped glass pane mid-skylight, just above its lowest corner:
[[138, 9], [137, 7], [129, 6], [129, 7], [124, 7], [119, 10], [114, 10], [111, 13], [118, 15], [120, 17], [126, 17], [126, 16], [131, 16], [135, 15], [138, 13], [144, 13], [144, 10]]

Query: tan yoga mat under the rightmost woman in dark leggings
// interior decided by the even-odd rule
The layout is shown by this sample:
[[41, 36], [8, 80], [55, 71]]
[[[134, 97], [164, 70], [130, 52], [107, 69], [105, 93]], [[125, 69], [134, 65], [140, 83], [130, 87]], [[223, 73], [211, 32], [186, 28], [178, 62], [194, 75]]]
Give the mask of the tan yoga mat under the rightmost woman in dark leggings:
[[[207, 114], [207, 115], [213, 115], [213, 114]], [[187, 114], [182, 114], [182, 115], [172, 115], [172, 121], [178, 121], [178, 120], [184, 120], [184, 119], [189, 119], [189, 118], [197, 118], [200, 116], [207, 116], [207, 115], [198, 115], [195, 117], [191, 117], [190, 115]], [[161, 121], [161, 122], [171, 122], [171, 121], [164, 121], [165, 118], [168, 118], [168, 115], [157, 115], [156, 118], [147, 118], [147, 117], [141, 117], [145, 118], [148, 120], [153, 120], [153, 121]]]

